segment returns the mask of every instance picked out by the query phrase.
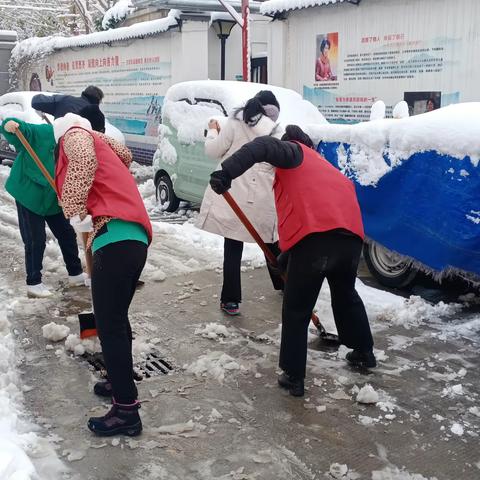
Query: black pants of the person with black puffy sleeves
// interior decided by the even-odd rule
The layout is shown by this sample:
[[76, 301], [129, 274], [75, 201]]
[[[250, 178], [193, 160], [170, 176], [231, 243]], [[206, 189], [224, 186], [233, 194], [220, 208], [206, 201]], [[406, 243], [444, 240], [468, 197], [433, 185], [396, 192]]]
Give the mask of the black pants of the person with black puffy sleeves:
[[280, 347], [280, 368], [289, 375], [305, 377], [308, 324], [325, 278], [340, 342], [361, 351], [373, 347], [367, 313], [355, 290], [361, 250], [360, 238], [337, 232], [309, 235], [290, 250]]

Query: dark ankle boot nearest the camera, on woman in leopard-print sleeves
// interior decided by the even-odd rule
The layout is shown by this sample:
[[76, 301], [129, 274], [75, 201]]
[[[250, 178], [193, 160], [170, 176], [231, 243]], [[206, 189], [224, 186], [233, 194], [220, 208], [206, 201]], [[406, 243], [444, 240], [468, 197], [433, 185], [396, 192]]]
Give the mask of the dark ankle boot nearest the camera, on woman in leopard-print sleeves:
[[130, 405], [115, 402], [110, 411], [103, 417], [91, 417], [87, 426], [90, 431], [100, 437], [112, 435], [128, 435], [135, 437], [142, 433], [142, 420], [138, 414], [140, 402], [135, 401]]

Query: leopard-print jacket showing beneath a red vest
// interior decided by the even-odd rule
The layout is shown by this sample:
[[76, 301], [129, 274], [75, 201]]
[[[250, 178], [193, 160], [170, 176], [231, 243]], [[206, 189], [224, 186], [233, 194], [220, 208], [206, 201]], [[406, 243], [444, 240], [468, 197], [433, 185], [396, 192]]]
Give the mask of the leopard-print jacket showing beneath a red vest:
[[[103, 133], [94, 132], [94, 135], [105, 141], [118, 155], [120, 160], [130, 167], [132, 154], [130, 150], [113, 138]], [[95, 143], [91, 134], [81, 129], [70, 129], [64, 136], [63, 150], [68, 158], [68, 169], [62, 187], [62, 208], [66, 218], [75, 215], [87, 215], [87, 199], [95, 179], [97, 170], [97, 156], [95, 154]], [[112, 217], [95, 217], [93, 219], [93, 232], [88, 236], [87, 248], [91, 248], [93, 239], [98, 231]]]

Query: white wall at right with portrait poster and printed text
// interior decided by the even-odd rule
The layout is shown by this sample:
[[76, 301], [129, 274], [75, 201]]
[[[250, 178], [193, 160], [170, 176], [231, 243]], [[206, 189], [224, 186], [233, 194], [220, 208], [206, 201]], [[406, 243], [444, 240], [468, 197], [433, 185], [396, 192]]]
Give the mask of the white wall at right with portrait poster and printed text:
[[[331, 121], [365, 120], [378, 99], [387, 109], [405, 99], [411, 113], [430, 98], [435, 107], [476, 101], [479, 18], [478, 0], [362, 0], [292, 11], [272, 23], [270, 80], [302, 93]], [[323, 38], [332, 45], [329, 80], [315, 77]]]

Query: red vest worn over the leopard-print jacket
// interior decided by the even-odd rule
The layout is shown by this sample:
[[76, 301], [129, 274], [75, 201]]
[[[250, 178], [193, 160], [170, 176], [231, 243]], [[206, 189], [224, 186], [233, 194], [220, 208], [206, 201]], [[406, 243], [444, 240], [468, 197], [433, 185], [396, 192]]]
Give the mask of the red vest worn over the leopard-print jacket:
[[[150, 243], [152, 241], [152, 224], [135, 179], [107, 143], [97, 135], [85, 131], [92, 136], [95, 142], [98, 162], [95, 179], [87, 199], [88, 213], [92, 218], [108, 216], [126, 222], [139, 223], [145, 228]], [[67, 167], [68, 158], [63, 150], [62, 137], [55, 166], [55, 183], [60, 196], [67, 174]]]

